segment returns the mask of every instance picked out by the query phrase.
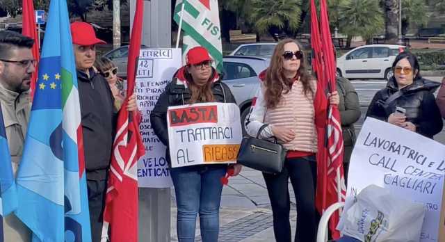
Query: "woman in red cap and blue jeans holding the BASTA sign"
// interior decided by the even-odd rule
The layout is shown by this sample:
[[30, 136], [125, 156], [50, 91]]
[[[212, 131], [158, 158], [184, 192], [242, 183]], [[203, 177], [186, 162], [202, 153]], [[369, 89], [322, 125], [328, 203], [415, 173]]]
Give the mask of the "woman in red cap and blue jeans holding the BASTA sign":
[[[150, 114], [154, 133], [168, 147], [167, 109], [169, 106], [202, 102], [235, 103], [229, 87], [222, 83], [211, 67], [209, 52], [204, 47], [188, 51], [186, 65], [181, 67], [159, 97]], [[205, 124], [203, 124], [205, 126]], [[195, 150], [192, 152], [201, 152]], [[219, 209], [227, 165], [199, 165], [171, 168], [170, 155], [165, 154], [175, 186], [177, 203], [177, 236], [180, 242], [195, 240], [197, 213], [200, 214], [201, 237], [204, 242], [218, 241]], [[240, 165], [231, 165], [234, 175]]]

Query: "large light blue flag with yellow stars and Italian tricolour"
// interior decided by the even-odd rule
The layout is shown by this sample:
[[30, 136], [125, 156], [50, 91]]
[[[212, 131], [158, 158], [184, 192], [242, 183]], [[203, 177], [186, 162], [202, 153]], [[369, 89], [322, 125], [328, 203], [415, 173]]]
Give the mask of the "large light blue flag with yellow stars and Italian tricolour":
[[51, 0], [24, 153], [17, 217], [33, 241], [91, 241], [81, 112], [65, 0]]

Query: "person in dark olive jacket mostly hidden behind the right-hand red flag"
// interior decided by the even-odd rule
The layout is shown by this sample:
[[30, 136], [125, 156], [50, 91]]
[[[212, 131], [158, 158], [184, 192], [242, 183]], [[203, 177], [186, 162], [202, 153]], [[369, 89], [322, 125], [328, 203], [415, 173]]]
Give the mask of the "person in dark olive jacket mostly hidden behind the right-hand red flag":
[[359, 96], [348, 79], [337, 77], [337, 91], [340, 97], [339, 111], [344, 144], [343, 170], [347, 183], [349, 160], [350, 155], [353, 153], [355, 143], [354, 123], [360, 118], [360, 104]]

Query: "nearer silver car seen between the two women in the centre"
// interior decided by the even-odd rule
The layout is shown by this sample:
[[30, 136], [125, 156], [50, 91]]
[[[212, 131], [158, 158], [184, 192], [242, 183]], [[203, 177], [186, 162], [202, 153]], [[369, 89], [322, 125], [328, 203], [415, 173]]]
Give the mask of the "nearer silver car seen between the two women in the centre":
[[[258, 75], [269, 65], [270, 60], [254, 56], [224, 56], [223, 82], [234, 94], [241, 111], [241, 122], [247, 117], [254, 95], [259, 89]], [[243, 135], [247, 132], [243, 127]]]

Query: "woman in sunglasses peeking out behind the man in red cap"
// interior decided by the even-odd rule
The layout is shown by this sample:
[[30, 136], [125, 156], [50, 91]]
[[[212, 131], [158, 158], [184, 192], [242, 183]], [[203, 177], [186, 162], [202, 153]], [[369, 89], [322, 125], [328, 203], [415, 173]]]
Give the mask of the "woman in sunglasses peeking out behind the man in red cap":
[[114, 65], [110, 59], [102, 57], [96, 60], [94, 67], [105, 77], [110, 86], [111, 92], [115, 99], [114, 105], [117, 108], [122, 106], [125, 99], [124, 82], [118, 77], [118, 67]]

